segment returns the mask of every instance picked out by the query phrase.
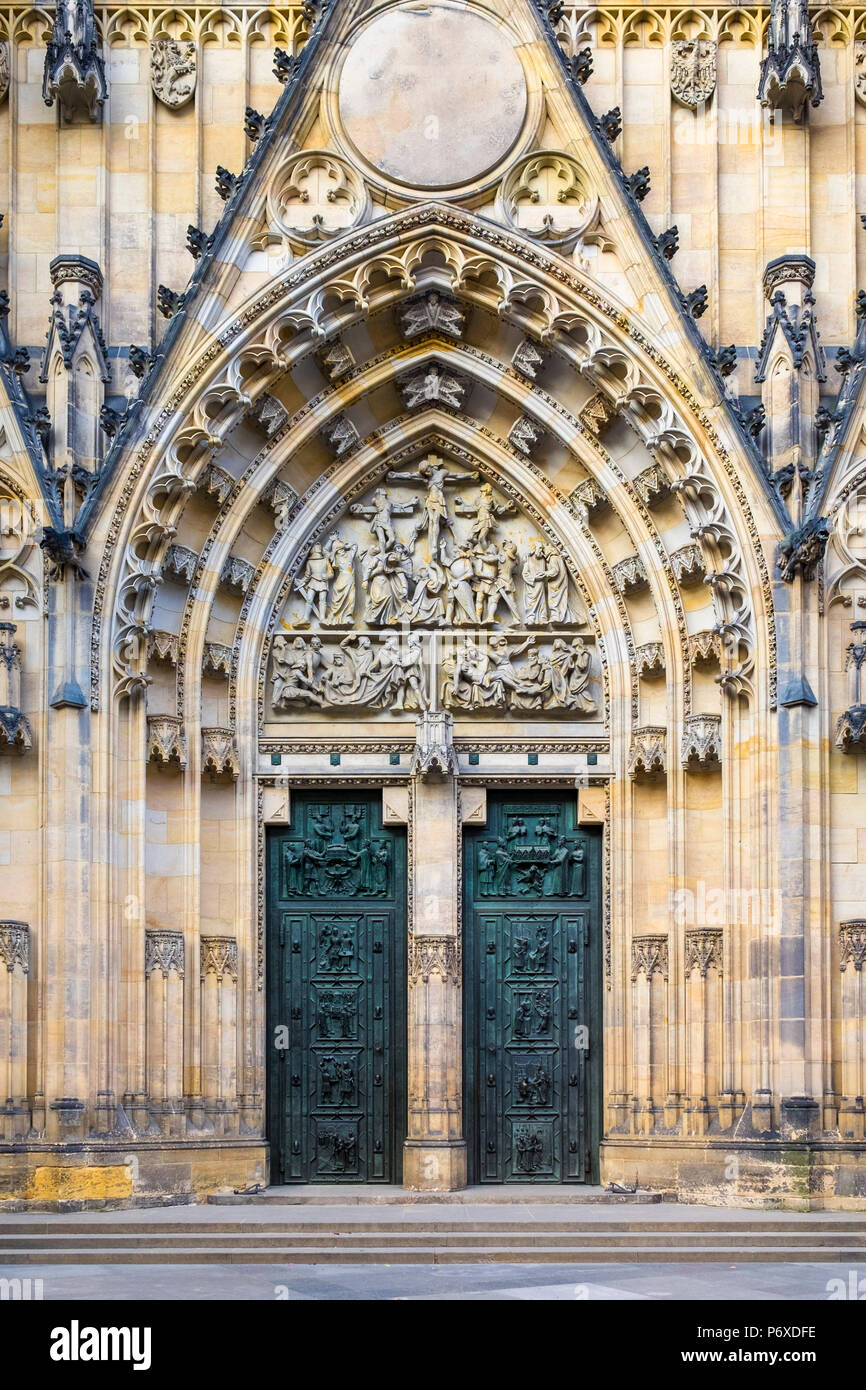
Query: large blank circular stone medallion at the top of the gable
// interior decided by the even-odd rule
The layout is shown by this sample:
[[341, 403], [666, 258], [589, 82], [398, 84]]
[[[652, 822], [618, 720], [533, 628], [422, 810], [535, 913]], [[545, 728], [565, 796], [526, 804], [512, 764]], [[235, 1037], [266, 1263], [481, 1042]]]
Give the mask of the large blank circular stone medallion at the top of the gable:
[[527, 83], [505, 29], [445, 6], [392, 10], [361, 31], [339, 79], [346, 135], [402, 183], [449, 188], [499, 164]]

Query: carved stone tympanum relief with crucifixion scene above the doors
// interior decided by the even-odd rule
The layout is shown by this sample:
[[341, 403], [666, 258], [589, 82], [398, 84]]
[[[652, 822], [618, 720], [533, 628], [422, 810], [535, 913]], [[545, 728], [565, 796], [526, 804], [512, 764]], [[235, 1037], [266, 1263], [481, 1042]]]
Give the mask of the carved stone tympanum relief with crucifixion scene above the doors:
[[559, 549], [478, 471], [391, 468], [303, 557], [271, 717], [452, 709], [595, 720], [598, 663]]

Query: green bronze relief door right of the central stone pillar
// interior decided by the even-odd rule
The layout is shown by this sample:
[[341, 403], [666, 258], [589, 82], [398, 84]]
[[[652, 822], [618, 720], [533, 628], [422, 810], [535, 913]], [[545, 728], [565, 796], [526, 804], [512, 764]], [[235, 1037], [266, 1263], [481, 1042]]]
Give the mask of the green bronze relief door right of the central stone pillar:
[[598, 1182], [601, 834], [575, 808], [488, 792], [466, 827], [470, 1183]]

